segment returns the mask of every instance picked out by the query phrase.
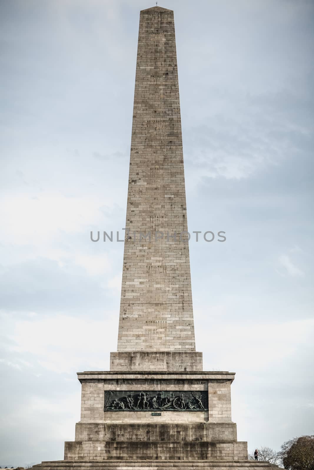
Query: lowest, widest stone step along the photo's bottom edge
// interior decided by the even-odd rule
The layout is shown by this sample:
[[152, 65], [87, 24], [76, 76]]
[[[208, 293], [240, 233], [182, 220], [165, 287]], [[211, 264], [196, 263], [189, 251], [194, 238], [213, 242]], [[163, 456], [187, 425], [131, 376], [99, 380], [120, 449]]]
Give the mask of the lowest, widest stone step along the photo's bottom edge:
[[41, 462], [32, 467], [35, 470], [279, 470], [269, 462], [242, 461], [65, 461]]

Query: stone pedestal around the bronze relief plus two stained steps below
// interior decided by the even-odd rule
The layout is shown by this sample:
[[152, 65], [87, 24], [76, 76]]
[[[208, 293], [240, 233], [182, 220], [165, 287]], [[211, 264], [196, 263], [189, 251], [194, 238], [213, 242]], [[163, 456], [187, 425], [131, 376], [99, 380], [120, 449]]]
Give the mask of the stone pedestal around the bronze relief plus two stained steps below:
[[[81, 421], [75, 441], [66, 442], [64, 459], [245, 460], [246, 443], [236, 440], [231, 421], [231, 372], [81, 372]], [[177, 390], [207, 395], [208, 410], [104, 411], [105, 392]], [[122, 393], [123, 392], [123, 393]], [[201, 442], [201, 443], [200, 443]], [[141, 443], [142, 446], [139, 444]], [[185, 447], [183, 447], [185, 446]], [[181, 454], [182, 448], [182, 454]], [[180, 450], [180, 451], [179, 451]], [[153, 455], [153, 457], [152, 457]]]

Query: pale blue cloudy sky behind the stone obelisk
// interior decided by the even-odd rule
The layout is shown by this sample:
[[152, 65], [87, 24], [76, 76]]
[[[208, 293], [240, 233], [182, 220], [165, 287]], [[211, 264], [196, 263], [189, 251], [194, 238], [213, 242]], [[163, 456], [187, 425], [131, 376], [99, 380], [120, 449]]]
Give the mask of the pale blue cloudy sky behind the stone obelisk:
[[[0, 466], [63, 458], [76, 372], [116, 350], [139, 11], [0, 2]], [[312, 0], [175, 11], [195, 334], [236, 372], [238, 440], [314, 432]]]

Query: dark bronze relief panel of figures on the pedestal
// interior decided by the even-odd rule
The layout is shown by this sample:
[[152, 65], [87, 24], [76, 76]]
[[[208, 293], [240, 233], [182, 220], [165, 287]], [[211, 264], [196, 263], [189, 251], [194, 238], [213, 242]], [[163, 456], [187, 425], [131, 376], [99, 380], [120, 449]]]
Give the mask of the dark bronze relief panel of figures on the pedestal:
[[104, 411], [204, 411], [208, 394], [203, 391], [105, 390]]

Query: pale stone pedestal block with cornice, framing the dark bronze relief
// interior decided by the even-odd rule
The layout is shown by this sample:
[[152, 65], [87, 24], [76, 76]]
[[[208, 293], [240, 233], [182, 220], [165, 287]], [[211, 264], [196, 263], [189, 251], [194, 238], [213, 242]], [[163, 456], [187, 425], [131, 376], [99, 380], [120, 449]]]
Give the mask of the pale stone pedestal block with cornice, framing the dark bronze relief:
[[[159, 422], [231, 422], [231, 382], [234, 373], [122, 373], [122, 372], [82, 372], [78, 374], [82, 384], [81, 422], [120, 422], [120, 423], [159, 423]], [[129, 411], [116, 413], [104, 411], [105, 390], [156, 390], [206, 391], [208, 410], [204, 411], [162, 411], [161, 416], [153, 416], [151, 411]]]

